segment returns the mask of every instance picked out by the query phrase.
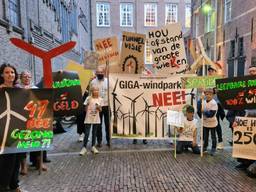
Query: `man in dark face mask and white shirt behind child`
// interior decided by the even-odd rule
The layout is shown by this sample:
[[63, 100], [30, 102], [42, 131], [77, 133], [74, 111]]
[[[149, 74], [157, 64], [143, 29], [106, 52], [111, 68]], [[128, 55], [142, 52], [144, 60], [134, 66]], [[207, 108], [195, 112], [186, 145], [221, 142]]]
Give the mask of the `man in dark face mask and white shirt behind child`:
[[102, 146], [102, 119], [104, 117], [107, 146], [110, 146], [109, 134], [109, 107], [108, 107], [108, 79], [105, 78], [103, 67], [97, 67], [96, 78], [91, 81], [90, 87], [99, 87], [100, 97], [103, 99], [102, 111], [100, 112], [101, 128], [97, 131], [97, 147]]

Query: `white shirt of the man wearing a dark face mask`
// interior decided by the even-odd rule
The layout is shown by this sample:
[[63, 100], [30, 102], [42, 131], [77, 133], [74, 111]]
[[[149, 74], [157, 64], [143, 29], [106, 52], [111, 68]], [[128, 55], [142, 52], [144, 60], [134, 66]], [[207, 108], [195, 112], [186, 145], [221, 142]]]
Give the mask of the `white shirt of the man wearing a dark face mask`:
[[100, 97], [103, 99], [102, 106], [108, 106], [108, 80], [98, 80], [97, 78], [93, 79], [90, 84], [91, 87], [97, 86], [100, 91]]

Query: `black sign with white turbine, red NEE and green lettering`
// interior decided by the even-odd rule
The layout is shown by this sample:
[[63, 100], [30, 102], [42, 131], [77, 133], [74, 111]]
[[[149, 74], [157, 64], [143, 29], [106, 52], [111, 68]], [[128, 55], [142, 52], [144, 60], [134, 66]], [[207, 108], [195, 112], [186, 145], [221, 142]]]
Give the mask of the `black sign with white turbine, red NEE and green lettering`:
[[47, 150], [52, 144], [52, 89], [0, 90], [0, 154]]

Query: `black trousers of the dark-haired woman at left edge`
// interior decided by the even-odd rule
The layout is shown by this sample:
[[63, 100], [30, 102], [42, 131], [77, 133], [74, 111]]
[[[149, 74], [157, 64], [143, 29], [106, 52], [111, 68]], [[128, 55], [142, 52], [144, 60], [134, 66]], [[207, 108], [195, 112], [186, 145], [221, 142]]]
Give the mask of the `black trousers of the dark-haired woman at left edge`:
[[0, 191], [19, 187], [20, 154], [0, 155]]

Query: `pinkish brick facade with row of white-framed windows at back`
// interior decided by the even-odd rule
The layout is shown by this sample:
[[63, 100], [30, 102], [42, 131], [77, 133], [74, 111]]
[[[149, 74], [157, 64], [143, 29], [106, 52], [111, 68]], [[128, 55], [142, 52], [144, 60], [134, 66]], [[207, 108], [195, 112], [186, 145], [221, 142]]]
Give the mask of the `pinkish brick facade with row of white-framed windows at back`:
[[[166, 23], [179, 22], [190, 30], [190, 0], [95, 0], [92, 1], [92, 39], [117, 36], [122, 31], [145, 34]], [[121, 41], [120, 47], [121, 47]], [[150, 63], [145, 60], [146, 63]]]

